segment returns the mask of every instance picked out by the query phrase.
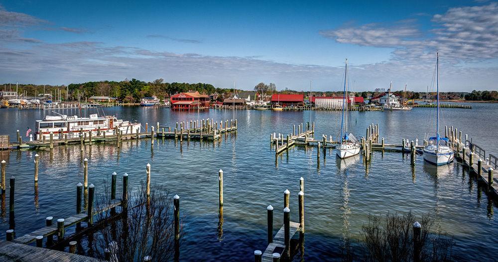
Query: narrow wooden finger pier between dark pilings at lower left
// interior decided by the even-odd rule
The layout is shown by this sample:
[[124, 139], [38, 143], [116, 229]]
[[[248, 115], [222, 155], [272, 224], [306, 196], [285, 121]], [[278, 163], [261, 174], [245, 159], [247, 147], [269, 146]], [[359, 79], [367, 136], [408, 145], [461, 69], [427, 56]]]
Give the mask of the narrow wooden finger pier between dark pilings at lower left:
[[[117, 207], [119, 205], [121, 205], [121, 200], [114, 199], [114, 200], [112, 200], [110, 205], [108, 205], [104, 208], [101, 208], [99, 210], [96, 210], [93, 214], [97, 215], [101, 212], [105, 212], [105, 211], [107, 211], [111, 208]], [[86, 221], [87, 218], [88, 218], [87, 212], [82, 212], [80, 214], [76, 214], [74, 216], [65, 218], [64, 219], [64, 228], [67, 228], [67, 227], [72, 226], [72, 225], [79, 223], [79, 222]], [[46, 236], [50, 236], [50, 235], [54, 235], [54, 234], [57, 234], [57, 223], [54, 223], [52, 226], [43, 227], [41, 229], [38, 229], [38, 230], [33, 231], [31, 233], [28, 233], [24, 236], [18, 237], [16, 239], [12, 240], [12, 242], [19, 243], [19, 244], [28, 244], [28, 243], [35, 241], [37, 236], [46, 237]]]

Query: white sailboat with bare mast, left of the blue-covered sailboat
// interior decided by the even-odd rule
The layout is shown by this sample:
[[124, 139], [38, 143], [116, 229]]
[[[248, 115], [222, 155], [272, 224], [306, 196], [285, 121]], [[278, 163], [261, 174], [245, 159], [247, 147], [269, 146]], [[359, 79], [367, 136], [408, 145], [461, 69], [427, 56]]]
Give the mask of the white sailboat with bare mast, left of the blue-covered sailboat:
[[[348, 158], [360, 153], [358, 139], [352, 134], [348, 134], [348, 59], [346, 59], [346, 73], [344, 78], [344, 96], [341, 118], [341, 143], [336, 146], [336, 153], [339, 158]], [[344, 135], [343, 135], [344, 134]]]

